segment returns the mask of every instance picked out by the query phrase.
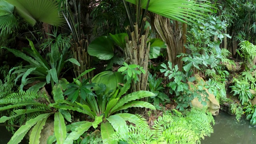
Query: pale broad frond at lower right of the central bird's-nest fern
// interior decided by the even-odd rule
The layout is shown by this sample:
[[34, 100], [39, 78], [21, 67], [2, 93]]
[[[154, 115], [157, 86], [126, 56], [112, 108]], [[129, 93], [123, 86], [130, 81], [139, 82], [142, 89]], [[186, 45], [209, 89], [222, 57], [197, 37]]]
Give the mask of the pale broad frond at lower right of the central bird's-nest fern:
[[127, 132], [129, 132], [128, 126], [121, 116], [109, 116], [107, 120], [113, 126], [114, 130], [116, 130], [116, 132], [118, 132], [119, 134], [126, 134]]

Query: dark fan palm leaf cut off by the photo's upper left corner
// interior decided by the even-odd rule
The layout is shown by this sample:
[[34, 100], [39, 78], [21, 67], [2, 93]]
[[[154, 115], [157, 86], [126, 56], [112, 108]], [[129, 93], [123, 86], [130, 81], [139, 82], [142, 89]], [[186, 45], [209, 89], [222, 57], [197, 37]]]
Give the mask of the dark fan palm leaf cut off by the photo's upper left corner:
[[17, 28], [18, 22], [15, 16], [12, 14], [14, 6], [0, 0], [0, 35], [9, 34]]

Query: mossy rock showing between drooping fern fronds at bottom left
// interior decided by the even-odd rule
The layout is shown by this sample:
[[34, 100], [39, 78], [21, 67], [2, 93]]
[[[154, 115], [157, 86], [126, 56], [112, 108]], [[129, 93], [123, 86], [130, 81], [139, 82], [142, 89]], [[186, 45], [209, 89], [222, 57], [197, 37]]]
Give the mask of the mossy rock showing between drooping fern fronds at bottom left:
[[[29, 130], [29, 132], [28, 132], [28, 134], [26, 136], [27, 139], [29, 139], [31, 131], [32, 131], [33, 128], [34, 127], [32, 127]], [[40, 139], [39, 139], [40, 140], [40, 144], [47, 144], [48, 137], [53, 135], [53, 133], [54, 133], [54, 120], [48, 119], [48, 120], [46, 120], [44, 128], [42, 129], [41, 134], [40, 134], [40, 136], [41, 136]]]

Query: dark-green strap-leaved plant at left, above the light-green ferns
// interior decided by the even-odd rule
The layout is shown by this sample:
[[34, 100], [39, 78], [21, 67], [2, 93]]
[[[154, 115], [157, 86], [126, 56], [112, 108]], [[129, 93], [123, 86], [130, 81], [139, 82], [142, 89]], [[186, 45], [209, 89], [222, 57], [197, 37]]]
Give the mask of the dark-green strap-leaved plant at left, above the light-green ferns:
[[[30, 91], [38, 91], [45, 84], [54, 86], [54, 83], [58, 83], [60, 78], [60, 73], [66, 65], [66, 63], [72, 62], [80, 66], [77, 60], [74, 58], [69, 58], [68, 56], [68, 44], [65, 44], [65, 47], [60, 51], [58, 46], [52, 45], [51, 51], [46, 54], [47, 57], [44, 58], [36, 50], [33, 42], [28, 40], [31, 48], [24, 48], [24, 52], [28, 53], [30, 56], [26, 55], [24, 52], [16, 49], [6, 48], [6, 50], [12, 52], [15, 56], [18, 56], [28, 62], [29, 64], [23, 66], [19, 70], [15, 70], [13, 74], [18, 74], [15, 79], [15, 83], [19, 78], [21, 78], [20, 90], [23, 90], [23, 87], [27, 84], [39, 81], [30, 87]], [[28, 77], [31, 76], [31, 77]]]

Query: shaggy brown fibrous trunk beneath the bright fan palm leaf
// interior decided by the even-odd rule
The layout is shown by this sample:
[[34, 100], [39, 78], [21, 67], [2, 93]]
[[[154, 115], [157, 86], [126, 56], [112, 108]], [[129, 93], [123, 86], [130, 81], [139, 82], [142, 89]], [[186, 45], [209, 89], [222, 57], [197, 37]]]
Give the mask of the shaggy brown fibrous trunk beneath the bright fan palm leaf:
[[[170, 19], [160, 15], [154, 16], [154, 28], [159, 36], [166, 42], [168, 60], [172, 62], [172, 66], [178, 65], [179, 70], [182, 70], [182, 57], [177, 58], [177, 55], [184, 50], [184, 41], [186, 36], [182, 36], [182, 28], [186, 30], [186, 25], [179, 26], [179, 22], [175, 21], [174, 24], [170, 24]], [[186, 31], [184, 31], [186, 33]]]

